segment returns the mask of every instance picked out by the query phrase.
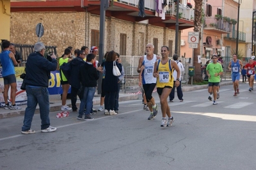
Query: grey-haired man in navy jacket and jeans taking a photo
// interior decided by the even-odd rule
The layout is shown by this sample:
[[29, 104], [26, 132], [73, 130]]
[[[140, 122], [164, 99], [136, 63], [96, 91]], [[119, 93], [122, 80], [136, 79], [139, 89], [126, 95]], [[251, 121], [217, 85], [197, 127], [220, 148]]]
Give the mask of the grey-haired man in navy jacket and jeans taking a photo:
[[57, 128], [50, 126], [49, 119], [49, 93], [48, 85], [50, 72], [57, 68], [56, 56], [51, 56], [51, 61], [44, 58], [46, 47], [44, 43], [37, 42], [34, 50], [26, 63], [26, 93], [28, 97], [28, 106], [26, 107], [24, 121], [22, 126], [22, 134], [35, 134], [35, 130], [31, 129], [34, 112], [39, 105], [41, 118], [41, 132], [55, 132]]

